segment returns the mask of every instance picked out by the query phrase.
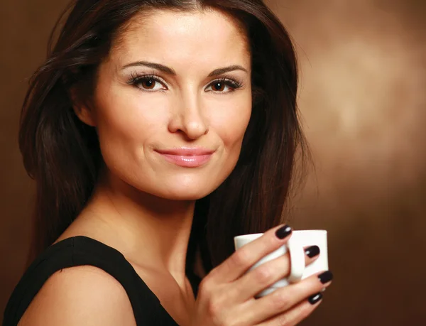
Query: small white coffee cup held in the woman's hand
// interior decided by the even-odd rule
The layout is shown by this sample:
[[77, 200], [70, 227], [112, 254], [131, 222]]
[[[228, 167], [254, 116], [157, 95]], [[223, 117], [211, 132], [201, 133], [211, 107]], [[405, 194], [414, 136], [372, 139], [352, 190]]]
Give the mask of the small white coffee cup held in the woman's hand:
[[[234, 237], [235, 249], [241, 248], [244, 244], [261, 237], [263, 233], [244, 234]], [[305, 266], [305, 247], [308, 246], [319, 246], [320, 256]], [[295, 283], [308, 276], [311, 276], [320, 271], [328, 271], [328, 252], [327, 252], [327, 231], [326, 230], [297, 230], [293, 231], [287, 244], [280, 246], [280, 248], [264, 256], [260, 261], [256, 262], [249, 271], [253, 270], [266, 261], [271, 261], [279, 256], [282, 256], [287, 251], [290, 253], [290, 274], [286, 278], [282, 278], [279, 281], [273, 283], [270, 287], [262, 290], [256, 295], [256, 298], [263, 297], [272, 293], [277, 288], [288, 286], [290, 283]], [[246, 273], [249, 273], [246, 271]]]

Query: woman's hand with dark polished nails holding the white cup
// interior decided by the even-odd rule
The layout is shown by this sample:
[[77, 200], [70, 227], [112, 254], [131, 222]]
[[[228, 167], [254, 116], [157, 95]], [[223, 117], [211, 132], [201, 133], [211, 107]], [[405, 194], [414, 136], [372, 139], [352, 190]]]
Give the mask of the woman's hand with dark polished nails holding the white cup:
[[[290, 234], [288, 226], [273, 227], [213, 268], [200, 283], [191, 325], [291, 326], [310, 315], [322, 299], [322, 289], [331, 283], [332, 273], [317, 273], [258, 299], [254, 298], [257, 293], [288, 276], [288, 254], [244, 274], [263, 256], [285, 244]], [[314, 260], [306, 256], [306, 264]]]

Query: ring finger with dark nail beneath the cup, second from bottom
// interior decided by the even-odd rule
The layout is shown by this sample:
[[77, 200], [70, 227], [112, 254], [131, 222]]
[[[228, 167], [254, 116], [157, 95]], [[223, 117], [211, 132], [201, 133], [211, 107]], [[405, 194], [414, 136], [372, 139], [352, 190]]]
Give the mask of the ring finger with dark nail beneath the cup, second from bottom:
[[330, 271], [316, 273], [300, 282], [278, 288], [261, 298], [253, 298], [246, 308], [248, 318], [252, 323], [256, 323], [282, 314], [306, 298], [322, 292], [323, 288], [330, 286], [332, 278], [333, 274]]

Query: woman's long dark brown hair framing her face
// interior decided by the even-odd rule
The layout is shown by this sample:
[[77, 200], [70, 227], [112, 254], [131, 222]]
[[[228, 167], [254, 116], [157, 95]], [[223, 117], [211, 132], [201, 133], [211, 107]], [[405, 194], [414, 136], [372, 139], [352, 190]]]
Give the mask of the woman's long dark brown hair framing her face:
[[282, 222], [295, 153], [305, 148], [305, 140], [297, 118], [295, 51], [263, 1], [75, 0], [53, 29], [48, 58], [31, 77], [21, 112], [19, 146], [37, 184], [28, 262], [82, 211], [102, 164], [96, 131], [72, 110], [71, 87], [77, 89], [77, 100], [90, 99], [99, 63], [136, 14], [203, 8], [219, 9], [244, 26], [252, 57], [253, 106], [236, 167], [217, 190], [197, 200], [187, 267], [197, 246], [208, 272], [234, 251], [234, 236], [265, 232]]

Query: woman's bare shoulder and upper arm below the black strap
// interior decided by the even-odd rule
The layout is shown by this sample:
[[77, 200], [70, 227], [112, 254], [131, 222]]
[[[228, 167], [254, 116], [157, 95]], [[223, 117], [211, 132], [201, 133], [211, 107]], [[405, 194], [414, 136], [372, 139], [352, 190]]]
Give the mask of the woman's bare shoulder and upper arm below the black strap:
[[94, 266], [63, 268], [45, 282], [19, 326], [136, 325], [126, 290]]

